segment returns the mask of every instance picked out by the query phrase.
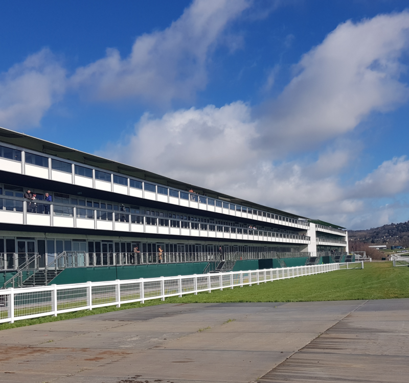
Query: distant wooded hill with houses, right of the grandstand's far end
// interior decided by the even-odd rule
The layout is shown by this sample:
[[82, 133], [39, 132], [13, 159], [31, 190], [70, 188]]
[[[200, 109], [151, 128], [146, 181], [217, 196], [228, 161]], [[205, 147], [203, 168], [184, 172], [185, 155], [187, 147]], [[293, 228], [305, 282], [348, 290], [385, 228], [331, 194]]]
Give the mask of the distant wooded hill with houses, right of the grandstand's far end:
[[409, 245], [409, 221], [368, 230], [348, 230], [348, 239], [351, 242], [363, 242], [368, 245]]

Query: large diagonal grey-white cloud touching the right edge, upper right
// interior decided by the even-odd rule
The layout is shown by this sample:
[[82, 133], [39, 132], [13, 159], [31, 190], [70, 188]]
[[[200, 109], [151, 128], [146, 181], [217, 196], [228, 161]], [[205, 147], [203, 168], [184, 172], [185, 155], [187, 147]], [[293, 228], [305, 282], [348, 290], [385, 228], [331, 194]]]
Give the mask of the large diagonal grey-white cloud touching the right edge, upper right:
[[373, 111], [404, 103], [409, 92], [399, 82], [405, 70], [399, 58], [408, 28], [408, 12], [339, 25], [303, 56], [282, 94], [260, 108], [255, 145], [307, 149], [353, 130]]

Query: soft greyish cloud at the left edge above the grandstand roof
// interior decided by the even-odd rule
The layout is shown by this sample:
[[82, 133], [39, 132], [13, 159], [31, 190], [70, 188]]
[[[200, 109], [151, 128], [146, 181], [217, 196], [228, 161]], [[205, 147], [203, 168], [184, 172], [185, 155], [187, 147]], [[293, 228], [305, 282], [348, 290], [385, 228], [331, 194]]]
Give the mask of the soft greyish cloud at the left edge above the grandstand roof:
[[0, 75], [0, 125], [38, 126], [65, 91], [65, 70], [48, 49]]

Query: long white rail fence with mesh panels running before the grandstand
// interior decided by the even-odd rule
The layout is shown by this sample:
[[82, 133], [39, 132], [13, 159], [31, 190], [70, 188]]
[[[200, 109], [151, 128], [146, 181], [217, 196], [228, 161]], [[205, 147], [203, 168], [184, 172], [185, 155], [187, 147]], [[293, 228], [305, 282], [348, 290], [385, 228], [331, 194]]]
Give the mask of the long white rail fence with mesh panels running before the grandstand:
[[363, 262], [10, 288], [0, 290], [0, 323], [57, 316], [103, 306], [119, 307], [131, 302], [144, 303], [149, 299], [165, 300], [166, 297], [181, 297], [184, 294], [210, 293], [212, 290], [233, 289], [347, 268], [363, 268]]

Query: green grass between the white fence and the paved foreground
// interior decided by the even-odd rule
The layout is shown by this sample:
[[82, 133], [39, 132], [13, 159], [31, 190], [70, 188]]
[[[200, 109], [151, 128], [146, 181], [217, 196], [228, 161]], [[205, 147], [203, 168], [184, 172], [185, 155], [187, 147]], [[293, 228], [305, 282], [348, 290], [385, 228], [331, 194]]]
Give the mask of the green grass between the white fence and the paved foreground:
[[81, 310], [59, 314], [58, 317], [27, 319], [13, 324], [4, 323], [0, 325], [0, 330], [163, 303], [301, 302], [390, 298], [409, 298], [409, 268], [394, 268], [392, 262], [366, 262], [363, 270], [338, 270], [238, 287], [233, 290], [216, 290], [211, 294], [187, 294], [182, 298], [166, 298], [164, 302], [154, 299], [146, 301], [145, 304], [124, 304], [120, 308], [108, 306], [91, 311]]

